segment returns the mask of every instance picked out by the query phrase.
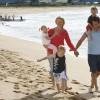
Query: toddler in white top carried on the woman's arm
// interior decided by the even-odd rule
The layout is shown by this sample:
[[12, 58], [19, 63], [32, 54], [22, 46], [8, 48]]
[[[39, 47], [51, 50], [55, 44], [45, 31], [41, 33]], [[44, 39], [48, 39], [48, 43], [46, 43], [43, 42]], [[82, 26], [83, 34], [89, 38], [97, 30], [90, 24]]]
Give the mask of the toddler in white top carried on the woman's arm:
[[52, 37], [49, 37], [48, 28], [45, 25], [41, 26], [41, 31], [42, 31], [42, 43], [43, 43], [44, 48], [52, 49], [53, 53], [56, 53], [57, 47], [50, 43], [51, 39], [54, 38], [56, 34], [54, 34]]

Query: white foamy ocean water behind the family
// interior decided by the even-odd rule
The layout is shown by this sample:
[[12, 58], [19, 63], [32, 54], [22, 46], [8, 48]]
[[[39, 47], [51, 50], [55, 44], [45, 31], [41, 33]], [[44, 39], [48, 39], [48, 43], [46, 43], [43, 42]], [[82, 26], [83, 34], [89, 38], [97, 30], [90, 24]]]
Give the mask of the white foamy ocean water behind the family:
[[[78, 10], [78, 11], [57, 11], [57, 12], [42, 12], [34, 14], [24, 14], [17, 16], [23, 16], [25, 21], [22, 22], [3, 22], [0, 23], [0, 34], [6, 36], [12, 36], [20, 38], [23, 40], [34, 41], [37, 43], [42, 43], [41, 32], [39, 28], [42, 25], [48, 26], [48, 28], [53, 28], [56, 26], [55, 19], [61, 16], [65, 19], [64, 28], [68, 31], [71, 41], [76, 45], [77, 41], [80, 39], [82, 34], [86, 30], [87, 18], [90, 15], [88, 10]], [[66, 43], [65, 43], [66, 44]], [[67, 53], [73, 55], [69, 52], [69, 48], [66, 44]], [[87, 39], [83, 42], [79, 48], [80, 57], [87, 58]]]

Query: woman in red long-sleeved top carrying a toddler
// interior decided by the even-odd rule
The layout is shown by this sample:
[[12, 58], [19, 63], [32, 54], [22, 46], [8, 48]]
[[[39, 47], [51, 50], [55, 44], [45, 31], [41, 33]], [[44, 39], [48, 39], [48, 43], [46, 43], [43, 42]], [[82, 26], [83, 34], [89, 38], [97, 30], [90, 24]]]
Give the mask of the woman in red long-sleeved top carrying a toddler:
[[[56, 34], [56, 36], [51, 40], [51, 44], [55, 45], [58, 48], [60, 45], [64, 45], [64, 40], [65, 40], [67, 45], [70, 48], [70, 51], [74, 51], [74, 54], [77, 56], [78, 52], [75, 50], [73, 44], [71, 43], [71, 40], [70, 40], [67, 30], [65, 30], [63, 28], [63, 26], [65, 24], [65, 20], [62, 17], [57, 17], [55, 20], [55, 23], [57, 26], [53, 29], [50, 29], [48, 32], [50, 37], [53, 36], [53, 34]], [[49, 56], [52, 53], [53, 53], [53, 51], [51, 49], [48, 49], [47, 55]], [[49, 64], [50, 64], [50, 75], [51, 75], [52, 84], [54, 87], [55, 82], [54, 82], [54, 77], [53, 77], [53, 59], [49, 59]], [[66, 89], [67, 89], [67, 87], [66, 87]]]

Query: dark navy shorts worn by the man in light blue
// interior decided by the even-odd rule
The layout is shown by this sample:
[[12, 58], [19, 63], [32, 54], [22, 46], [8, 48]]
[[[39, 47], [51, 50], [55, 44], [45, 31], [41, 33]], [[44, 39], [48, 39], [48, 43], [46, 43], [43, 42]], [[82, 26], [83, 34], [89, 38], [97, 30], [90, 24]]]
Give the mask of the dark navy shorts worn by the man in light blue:
[[100, 55], [88, 54], [88, 64], [90, 66], [90, 72], [100, 72]]

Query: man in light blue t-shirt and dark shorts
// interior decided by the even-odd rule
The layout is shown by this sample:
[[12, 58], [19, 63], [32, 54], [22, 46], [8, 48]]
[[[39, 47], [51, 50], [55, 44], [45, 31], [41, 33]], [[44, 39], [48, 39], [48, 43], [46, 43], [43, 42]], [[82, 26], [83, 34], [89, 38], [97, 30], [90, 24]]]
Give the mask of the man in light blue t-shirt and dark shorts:
[[[95, 92], [99, 92], [97, 85], [97, 77], [100, 74], [100, 18], [94, 17], [92, 19], [92, 40], [88, 41], [88, 64], [91, 72], [91, 87], [89, 92], [93, 92], [92, 89], [95, 86]], [[81, 46], [82, 42], [88, 37], [85, 32], [78, 43], [76, 44], [76, 50]]]

